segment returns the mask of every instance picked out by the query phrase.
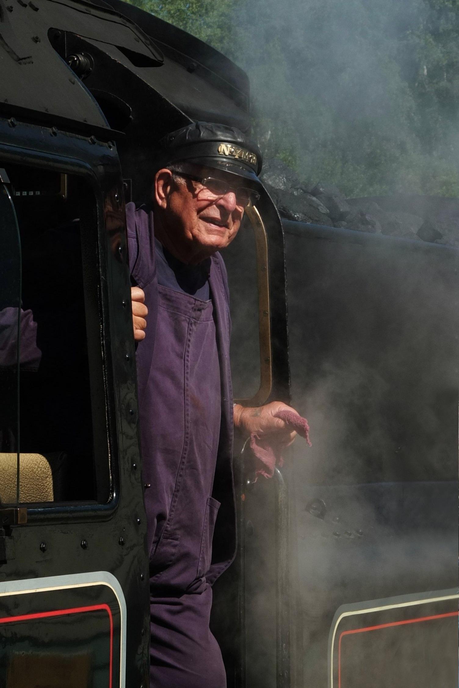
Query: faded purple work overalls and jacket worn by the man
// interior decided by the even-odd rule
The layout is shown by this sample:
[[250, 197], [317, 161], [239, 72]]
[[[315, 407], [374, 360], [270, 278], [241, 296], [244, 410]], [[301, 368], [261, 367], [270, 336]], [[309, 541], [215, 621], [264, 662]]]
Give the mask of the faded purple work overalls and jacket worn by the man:
[[153, 213], [128, 204], [126, 215], [131, 275], [149, 309], [137, 374], [151, 484], [151, 688], [224, 688], [209, 615], [211, 585], [235, 552], [226, 271], [213, 256], [206, 301], [158, 284]]

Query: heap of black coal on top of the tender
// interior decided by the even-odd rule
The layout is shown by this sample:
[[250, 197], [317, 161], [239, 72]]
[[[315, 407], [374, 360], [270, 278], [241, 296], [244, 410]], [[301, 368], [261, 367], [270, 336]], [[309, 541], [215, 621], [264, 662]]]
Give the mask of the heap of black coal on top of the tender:
[[346, 198], [328, 182], [303, 184], [277, 159], [265, 162], [261, 179], [286, 219], [459, 248], [457, 198], [403, 194]]

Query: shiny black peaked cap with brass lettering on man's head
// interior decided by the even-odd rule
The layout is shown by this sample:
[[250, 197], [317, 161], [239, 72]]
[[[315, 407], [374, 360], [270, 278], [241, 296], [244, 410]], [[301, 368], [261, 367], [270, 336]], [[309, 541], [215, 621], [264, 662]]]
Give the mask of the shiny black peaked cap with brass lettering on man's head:
[[192, 122], [160, 141], [158, 164], [194, 162], [258, 182], [261, 152], [242, 131], [209, 122]]

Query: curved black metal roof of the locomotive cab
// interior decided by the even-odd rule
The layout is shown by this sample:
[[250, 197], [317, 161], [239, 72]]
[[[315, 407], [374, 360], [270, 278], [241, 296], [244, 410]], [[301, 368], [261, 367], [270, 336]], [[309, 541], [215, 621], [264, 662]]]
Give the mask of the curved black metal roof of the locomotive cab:
[[[78, 78], [67, 64], [76, 50], [93, 61], [89, 76]], [[10, 0], [0, 8], [0, 74], [0, 114], [101, 138], [116, 138], [113, 129], [122, 129], [122, 117], [107, 118], [107, 102], [126, 112], [160, 102], [174, 125], [249, 127], [242, 69], [120, 0]]]

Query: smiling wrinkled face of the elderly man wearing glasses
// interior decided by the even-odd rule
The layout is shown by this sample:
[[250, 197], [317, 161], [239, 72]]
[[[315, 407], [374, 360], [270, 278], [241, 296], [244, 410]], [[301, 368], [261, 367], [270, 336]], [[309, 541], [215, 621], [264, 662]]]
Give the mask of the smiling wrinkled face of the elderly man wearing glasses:
[[[233, 187], [248, 186], [244, 178], [206, 167], [190, 165], [186, 173], [224, 180]], [[189, 257], [190, 263], [226, 248], [237, 235], [244, 206], [238, 204], [235, 191], [230, 189], [221, 197], [209, 198], [200, 182], [191, 180], [185, 173], [182, 177], [164, 169], [156, 174], [155, 191], [162, 230], [173, 244], [174, 252]]]

